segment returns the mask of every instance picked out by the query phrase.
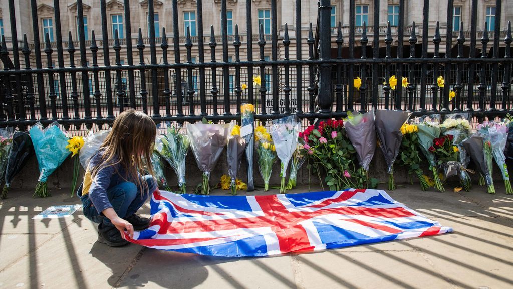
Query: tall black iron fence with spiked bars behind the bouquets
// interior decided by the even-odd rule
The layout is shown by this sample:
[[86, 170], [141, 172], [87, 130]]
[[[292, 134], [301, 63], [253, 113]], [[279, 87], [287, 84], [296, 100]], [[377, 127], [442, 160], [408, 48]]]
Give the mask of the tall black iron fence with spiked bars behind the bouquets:
[[[71, 31], [67, 39], [61, 33], [60, 2], [54, 0], [57, 29], [56, 41], [51, 42], [48, 34], [43, 41], [39, 37], [36, 0], [31, 0], [34, 39], [29, 43], [26, 37], [17, 39], [14, 0], [9, 0], [12, 37], [7, 42], [2, 37], [0, 48], [4, 67], [0, 71], [0, 126], [25, 130], [37, 121], [58, 121], [66, 130], [101, 129], [129, 108], [144, 111], [156, 123], [194, 122], [203, 117], [230, 121], [239, 118], [243, 102], [255, 104], [257, 119], [262, 121], [292, 113], [310, 121], [340, 118], [347, 111], [363, 112], [370, 107], [414, 115], [468, 111], [479, 120], [511, 111], [513, 39], [509, 23], [506, 31], [501, 30], [500, 0], [492, 31], [486, 23], [478, 31], [477, 0], [471, 1], [470, 31], [463, 30], [463, 23], [460, 31], [453, 31], [453, 0], [447, 0], [447, 25], [440, 27], [437, 22], [432, 35], [429, 0], [423, 1], [420, 27], [405, 23], [404, 0], [399, 1], [397, 26], [380, 25], [379, 0], [372, 1], [373, 25], [357, 26], [356, 5], [350, 0], [349, 26], [339, 23], [335, 28], [331, 27], [330, 0], [320, 0], [317, 24], [310, 23], [307, 31], [302, 29], [301, 0], [295, 0], [292, 29], [289, 24], [278, 27], [277, 0], [271, 0], [269, 34], [262, 25], [252, 27], [254, 4], [246, 0], [246, 31], [235, 25], [233, 35], [227, 32], [227, 0], [220, 1], [221, 35], [215, 34], [213, 26], [203, 31], [202, 0], [196, 0], [198, 35], [194, 37], [190, 30], [185, 35], [179, 32], [178, 2], [172, 0], [172, 37], [167, 37], [165, 28], [160, 33], [163, 37], [155, 37], [155, 28], [149, 25], [149, 37], [143, 38], [139, 28], [139, 37], [132, 39], [130, 1], [124, 0], [125, 38], [120, 39], [117, 31], [109, 38], [106, 1], [101, 0], [102, 39], [96, 39], [92, 31], [86, 41], [82, 1], [76, 5], [79, 29], [78, 40], [73, 40]], [[153, 0], [148, 0], [148, 17], [153, 23]], [[394, 41], [397, 45], [392, 45]], [[245, 59], [241, 59], [241, 47]], [[193, 48], [197, 60], [192, 57]], [[306, 59], [303, 49], [308, 50]], [[122, 52], [126, 52], [127, 63], [121, 60]], [[145, 62], [148, 53], [150, 63]], [[290, 59], [291, 53], [295, 59]], [[134, 60], [137, 55], [139, 59]], [[187, 55], [185, 62], [183, 55]], [[391, 76], [398, 80], [396, 87], [388, 81]], [[445, 87], [437, 83], [440, 76]], [[261, 83], [253, 85], [254, 77], [260, 77]], [[403, 77], [408, 82], [404, 87]], [[355, 88], [357, 78], [361, 86]], [[451, 91], [456, 93], [452, 100]]]

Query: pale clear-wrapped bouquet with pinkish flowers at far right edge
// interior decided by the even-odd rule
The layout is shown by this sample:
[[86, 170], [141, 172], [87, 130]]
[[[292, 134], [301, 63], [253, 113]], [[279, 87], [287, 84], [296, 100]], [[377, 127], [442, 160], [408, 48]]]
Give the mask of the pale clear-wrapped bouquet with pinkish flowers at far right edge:
[[478, 133], [483, 136], [485, 141], [490, 142], [492, 155], [502, 172], [506, 194], [513, 194], [513, 189], [511, 188], [511, 183], [509, 181], [509, 172], [506, 166], [506, 156], [504, 155], [504, 148], [506, 147], [508, 137], [507, 126], [502, 122], [484, 122], [483, 124], [478, 125], [477, 130]]

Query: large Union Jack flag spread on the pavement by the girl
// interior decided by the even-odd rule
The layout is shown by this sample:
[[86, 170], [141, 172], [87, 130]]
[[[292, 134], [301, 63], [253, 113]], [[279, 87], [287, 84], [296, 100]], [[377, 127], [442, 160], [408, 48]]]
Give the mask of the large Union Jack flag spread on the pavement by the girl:
[[216, 196], [154, 192], [152, 221], [132, 243], [223, 257], [259, 257], [451, 232], [382, 190]]

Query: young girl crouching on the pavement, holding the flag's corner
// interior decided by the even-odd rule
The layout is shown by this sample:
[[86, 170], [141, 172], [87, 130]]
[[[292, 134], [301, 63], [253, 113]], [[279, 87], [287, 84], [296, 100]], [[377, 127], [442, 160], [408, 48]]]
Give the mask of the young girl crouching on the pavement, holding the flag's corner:
[[[155, 135], [150, 117], [126, 111], [116, 118], [100, 150], [91, 157], [77, 194], [87, 219], [100, 224], [98, 242], [123, 246], [128, 243], [122, 238], [125, 230], [132, 237], [134, 230], [148, 227], [149, 219], [135, 212], [157, 189], [151, 162], [143, 161], [150, 159]], [[140, 173], [145, 169], [150, 174], [143, 176]]]

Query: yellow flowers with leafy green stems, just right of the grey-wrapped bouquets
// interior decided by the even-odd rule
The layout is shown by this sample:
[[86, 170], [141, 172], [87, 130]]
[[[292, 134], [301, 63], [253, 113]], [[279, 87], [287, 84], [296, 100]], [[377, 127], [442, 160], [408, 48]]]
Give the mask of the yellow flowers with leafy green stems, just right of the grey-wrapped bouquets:
[[397, 159], [399, 165], [408, 167], [408, 175], [416, 174], [419, 178], [420, 187], [423, 191], [429, 188], [427, 180], [422, 175], [422, 169], [420, 168], [421, 158], [420, 152], [417, 149], [418, 133], [419, 129], [415, 124], [404, 124], [401, 127], [401, 133], [403, 134], [403, 140], [401, 141], [401, 148], [399, 150], [399, 158]]

